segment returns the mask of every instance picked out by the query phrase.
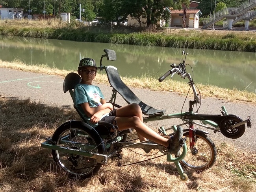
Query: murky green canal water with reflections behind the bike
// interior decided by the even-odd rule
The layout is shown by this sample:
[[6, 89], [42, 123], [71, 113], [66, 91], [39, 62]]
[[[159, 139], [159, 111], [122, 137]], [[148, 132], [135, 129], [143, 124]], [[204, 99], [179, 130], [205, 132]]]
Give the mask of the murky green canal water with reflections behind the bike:
[[[46, 64], [59, 69], [76, 70], [83, 57], [94, 58], [99, 64], [103, 49], [116, 51], [117, 60], [104, 60], [104, 64], [116, 66], [121, 76], [148, 75], [157, 79], [170, 69], [170, 64], [179, 64], [184, 59], [182, 49], [176, 48], [0, 36], [0, 59], [19, 59], [26, 64]], [[189, 53], [186, 63], [193, 67], [196, 82], [256, 91], [255, 53], [200, 49], [185, 51]], [[174, 79], [183, 80], [177, 75], [174, 75]]]

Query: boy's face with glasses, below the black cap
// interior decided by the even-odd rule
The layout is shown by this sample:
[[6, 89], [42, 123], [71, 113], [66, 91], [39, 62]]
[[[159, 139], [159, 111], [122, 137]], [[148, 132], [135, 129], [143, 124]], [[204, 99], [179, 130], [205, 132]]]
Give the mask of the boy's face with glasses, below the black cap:
[[82, 78], [82, 83], [91, 85], [93, 79], [96, 76], [96, 68], [94, 67], [83, 67], [77, 70], [78, 75]]

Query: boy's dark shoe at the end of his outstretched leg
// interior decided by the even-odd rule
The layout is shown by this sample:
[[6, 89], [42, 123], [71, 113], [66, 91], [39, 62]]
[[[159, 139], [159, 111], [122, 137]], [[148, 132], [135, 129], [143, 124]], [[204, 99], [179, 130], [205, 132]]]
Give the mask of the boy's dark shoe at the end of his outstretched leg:
[[176, 133], [169, 138], [168, 152], [177, 156], [180, 154], [180, 148], [186, 142], [186, 138], [182, 138], [182, 136], [183, 129], [181, 126], [178, 126]]

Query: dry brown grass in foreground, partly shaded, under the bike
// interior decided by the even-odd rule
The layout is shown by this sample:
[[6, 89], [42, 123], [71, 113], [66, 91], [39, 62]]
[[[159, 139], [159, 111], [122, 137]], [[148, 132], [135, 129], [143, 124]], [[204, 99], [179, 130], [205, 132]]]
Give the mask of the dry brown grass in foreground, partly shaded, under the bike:
[[[117, 159], [102, 166], [98, 174], [70, 179], [56, 167], [50, 150], [41, 148], [56, 127], [79, 119], [74, 109], [0, 97], [0, 190], [1, 192], [254, 192], [256, 154], [241, 152], [222, 143], [217, 162], [209, 170], [185, 170], [181, 182], [173, 163], [165, 158], [130, 166], [117, 166]], [[25, 121], [24, 121], [25, 120]], [[141, 151], [139, 149], [136, 152]], [[148, 157], [124, 149], [122, 165]], [[159, 155], [159, 154], [157, 154]]]

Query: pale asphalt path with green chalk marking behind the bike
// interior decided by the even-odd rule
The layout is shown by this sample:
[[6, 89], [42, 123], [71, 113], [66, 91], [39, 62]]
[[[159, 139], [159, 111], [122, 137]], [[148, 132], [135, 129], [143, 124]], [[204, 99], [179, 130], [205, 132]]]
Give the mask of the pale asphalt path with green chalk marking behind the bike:
[[[6, 68], [0, 68], [0, 74], [0, 97], [18, 99], [30, 98], [31, 101], [43, 102], [47, 105], [72, 108], [73, 103], [69, 92], [63, 92], [62, 85], [64, 77]], [[110, 85], [98, 84], [97, 82], [95, 82], [95, 85], [100, 87], [106, 101], [109, 101], [112, 90]], [[131, 88], [131, 90], [137, 97], [139, 97], [139, 99], [141, 99], [141, 101], [156, 109], [165, 109], [168, 114], [181, 112], [183, 104], [183, 112], [185, 112], [189, 108], [189, 100], [193, 99], [188, 98], [184, 103], [185, 96], [180, 96], [178, 93], [169, 91], [150, 91], [138, 88]], [[126, 105], [126, 102], [119, 95], [116, 101], [117, 104], [120, 104], [121, 106]], [[254, 121], [256, 121], [255, 105], [230, 102], [215, 98], [202, 98], [198, 112], [200, 114], [220, 115], [221, 106], [225, 106], [229, 114], [237, 115], [243, 120], [245, 120], [247, 116], [251, 116], [252, 127], [246, 128], [245, 133], [238, 139], [229, 139], [224, 137], [220, 132], [214, 133], [212, 130], [206, 130], [202, 127], [200, 127], [200, 129], [209, 132], [209, 137], [215, 144], [222, 142], [231, 143], [234, 144], [236, 148], [241, 148], [246, 151], [254, 151], [254, 146], [256, 145], [256, 140], [254, 139], [256, 138], [256, 132], [254, 130]], [[173, 124], [179, 123], [182, 123], [180, 119], [168, 119], [152, 121], [147, 123], [147, 125], [150, 128], [157, 130], [160, 126], [169, 128]]]

